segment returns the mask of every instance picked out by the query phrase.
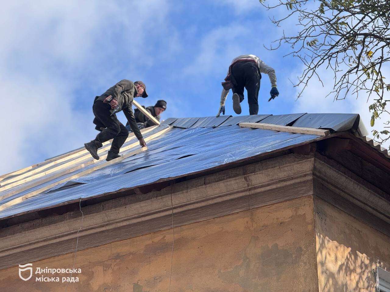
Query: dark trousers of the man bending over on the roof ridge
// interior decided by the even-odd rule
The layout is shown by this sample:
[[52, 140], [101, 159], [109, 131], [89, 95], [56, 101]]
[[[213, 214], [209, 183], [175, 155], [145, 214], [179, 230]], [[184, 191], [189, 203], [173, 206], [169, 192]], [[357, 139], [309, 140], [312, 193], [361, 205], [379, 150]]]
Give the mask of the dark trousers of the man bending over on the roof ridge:
[[240, 102], [244, 100], [244, 87], [248, 93], [249, 114], [259, 112], [259, 97], [261, 75], [259, 68], [254, 62], [238, 62], [232, 67], [232, 74], [236, 79], [237, 86], [232, 88], [233, 93], [237, 93]]

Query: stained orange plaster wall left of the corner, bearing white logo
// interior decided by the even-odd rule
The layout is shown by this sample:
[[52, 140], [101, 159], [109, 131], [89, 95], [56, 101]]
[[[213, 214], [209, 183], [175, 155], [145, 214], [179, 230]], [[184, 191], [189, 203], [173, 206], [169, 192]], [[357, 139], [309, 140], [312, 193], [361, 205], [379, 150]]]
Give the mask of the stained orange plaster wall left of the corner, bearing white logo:
[[[79, 283], [66, 291], [168, 291], [172, 230], [77, 252]], [[318, 291], [312, 197], [175, 228], [171, 291]], [[73, 266], [74, 253], [34, 262]], [[24, 263], [23, 263], [24, 264]], [[0, 271], [0, 291], [65, 291]]]

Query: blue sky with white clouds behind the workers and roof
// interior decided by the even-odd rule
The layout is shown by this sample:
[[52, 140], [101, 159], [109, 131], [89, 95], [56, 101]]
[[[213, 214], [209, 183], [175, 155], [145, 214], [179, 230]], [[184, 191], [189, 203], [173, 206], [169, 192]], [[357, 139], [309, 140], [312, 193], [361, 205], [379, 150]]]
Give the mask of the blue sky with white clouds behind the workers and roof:
[[[0, 173], [93, 139], [92, 101], [121, 79], [145, 82], [149, 97], [138, 99], [145, 106], [167, 100], [164, 119], [213, 116], [231, 60], [247, 53], [259, 56], [277, 74], [280, 96], [271, 102], [268, 76], [262, 76], [259, 114], [353, 112], [362, 114], [368, 126], [366, 99], [324, 98], [332, 86], [325, 69], [325, 87], [313, 82], [296, 101], [297, 89], [288, 79], [296, 80], [302, 64], [283, 58], [288, 47], [264, 48], [283, 30], [296, 30], [293, 21], [280, 28], [272, 25], [269, 17], [275, 13], [285, 11], [266, 11], [257, 0], [3, 4]], [[248, 114], [247, 100], [242, 107], [242, 114]], [[235, 115], [231, 93], [226, 108], [226, 114]], [[122, 113], [118, 116], [126, 122]]]

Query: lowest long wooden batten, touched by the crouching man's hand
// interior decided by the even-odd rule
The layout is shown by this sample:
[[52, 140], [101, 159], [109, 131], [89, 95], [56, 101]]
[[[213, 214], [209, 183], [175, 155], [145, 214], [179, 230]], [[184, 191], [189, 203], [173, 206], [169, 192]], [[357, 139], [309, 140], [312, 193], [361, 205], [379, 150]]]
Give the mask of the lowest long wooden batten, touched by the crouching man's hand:
[[[154, 139], [154, 138], [156, 138], [156, 137], [159, 137], [160, 135], [162, 135], [162, 134], [168, 132], [169, 130], [171, 130], [172, 128], [173, 128], [173, 127], [167, 127], [167, 128], [165, 128], [164, 130], [161, 130], [160, 132], [157, 132], [157, 133], [155, 133], [155, 134], [152, 134], [152, 135], [150, 135], [149, 137], [146, 137], [146, 138], [145, 138], [145, 141], [150, 141], [150, 140], [152, 140], [152, 139]], [[138, 142], [137, 142], [137, 143], [138, 143]], [[132, 144], [135, 144], [135, 143], [132, 143]], [[134, 146], [134, 145], [133, 145], [133, 146]], [[133, 147], [133, 146], [132, 146], [132, 147]], [[123, 150], [127, 150], [127, 149], [129, 149], [129, 148], [131, 148], [130, 145], [128, 145], [128, 146], [122, 148], [122, 151], [123, 151]], [[39, 188], [39, 189], [37, 189], [37, 190], [34, 190], [34, 191], [32, 191], [32, 192], [30, 192], [30, 193], [27, 193], [27, 194], [25, 194], [25, 195], [23, 195], [23, 196], [21, 196], [21, 197], [18, 197], [18, 198], [13, 199], [13, 200], [11, 200], [11, 201], [5, 203], [5, 204], [0, 205], [0, 211], [2, 211], [2, 210], [4, 210], [5, 208], [8, 208], [8, 207], [10, 207], [10, 206], [12, 206], [12, 205], [14, 205], [14, 204], [20, 203], [20, 202], [22, 202], [22, 201], [25, 200], [25, 199], [28, 199], [28, 198], [33, 197], [33, 196], [35, 196], [35, 195], [38, 195], [39, 193], [42, 193], [42, 192], [44, 192], [45, 190], [48, 190], [48, 189], [50, 189], [50, 188], [52, 188], [52, 187], [54, 187], [54, 186], [56, 186], [56, 185], [59, 185], [60, 183], [66, 183], [67, 181], [70, 181], [71, 179], [79, 178], [79, 177], [84, 176], [84, 175], [86, 175], [86, 174], [89, 174], [89, 173], [91, 173], [91, 172], [93, 172], [93, 171], [96, 171], [97, 169], [100, 169], [100, 168], [103, 168], [103, 167], [107, 167], [107, 166], [110, 166], [110, 165], [112, 165], [112, 164], [121, 162], [121, 160], [123, 160], [123, 159], [125, 159], [125, 158], [128, 158], [128, 157], [131, 157], [131, 156], [133, 156], [133, 155], [135, 155], [135, 154], [137, 154], [137, 153], [140, 153], [141, 151], [145, 151], [145, 150], [147, 150], [147, 147], [142, 147], [142, 148], [140, 148], [140, 149], [137, 149], [137, 150], [131, 151], [131, 152], [129, 152], [129, 153], [126, 153], [126, 154], [122, 155], [121, 157], [115, 158], [115, 159], [110, 160], [110, 161], [103, 162], [103, 163], [101, 163], [101, 164], [97, 164], [97, 165], [94, 166], [94, 167], [91, 167], [91, 168], [89, 168], [89, 169], [85, 169], [84, 171], [78, 172], [78, 173], [73, 174], [73, 175], [71, 175], [71, 176], [67, 176], [66, 178], [60, 179], [59, 181], [55, 181], [55, 182], [51, 183], [50, 185], [43, 186], [42, 188]], [[94, 161], [96, 161], [96, 160], [94, 160]], [[58, 175], [58, 174], [56, 174], [56, 175]], [[51, 178], [51, 179], [52, 179], [52, 178]]]

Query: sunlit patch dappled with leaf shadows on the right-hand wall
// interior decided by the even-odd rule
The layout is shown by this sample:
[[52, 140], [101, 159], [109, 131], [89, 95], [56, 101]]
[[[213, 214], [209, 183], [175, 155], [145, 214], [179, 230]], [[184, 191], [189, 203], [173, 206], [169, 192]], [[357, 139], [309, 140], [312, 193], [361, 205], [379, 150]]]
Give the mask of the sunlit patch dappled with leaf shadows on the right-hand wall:
[[316, 239], [320, 292], [377, 292], [376, 269], [382, 262], [320, 233]]

